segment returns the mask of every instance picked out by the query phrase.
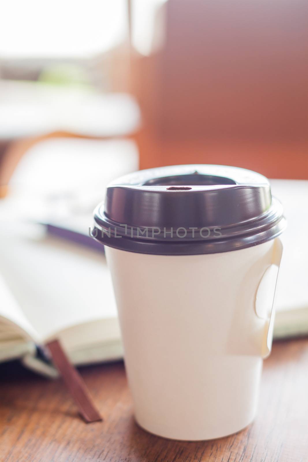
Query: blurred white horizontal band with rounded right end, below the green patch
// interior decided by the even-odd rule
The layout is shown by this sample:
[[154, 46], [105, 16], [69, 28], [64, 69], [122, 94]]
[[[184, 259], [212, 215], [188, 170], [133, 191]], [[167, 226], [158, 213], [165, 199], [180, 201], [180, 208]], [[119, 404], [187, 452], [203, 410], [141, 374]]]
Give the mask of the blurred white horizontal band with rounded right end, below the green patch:
[[126, 93], [44, 83], [0, 81], [0, 138], [66, 131], [122, 136], [140, 123], [139, 106]]

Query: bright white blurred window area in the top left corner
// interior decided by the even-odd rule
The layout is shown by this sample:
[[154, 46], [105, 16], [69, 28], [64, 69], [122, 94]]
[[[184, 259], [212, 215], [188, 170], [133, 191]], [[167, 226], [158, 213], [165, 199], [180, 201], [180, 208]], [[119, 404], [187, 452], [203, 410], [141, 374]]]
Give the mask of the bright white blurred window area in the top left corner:
[[[40, 0], [1, 5], [0, 56], [83, 57], [107, 51], [127, 32], [125, 0]], [[26, 20], [25, 20], [26, 18]], [[14, 27], [12, 27], [14, 24]]]

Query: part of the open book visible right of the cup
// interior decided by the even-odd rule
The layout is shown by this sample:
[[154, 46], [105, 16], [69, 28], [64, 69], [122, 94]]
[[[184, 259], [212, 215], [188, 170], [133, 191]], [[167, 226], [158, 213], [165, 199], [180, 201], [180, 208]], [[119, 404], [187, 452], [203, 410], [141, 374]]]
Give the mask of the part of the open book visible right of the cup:
[[287, 229], [279, 269], [274, 338], [308, 334], [308, 181], [271, 180], [282, 202]]

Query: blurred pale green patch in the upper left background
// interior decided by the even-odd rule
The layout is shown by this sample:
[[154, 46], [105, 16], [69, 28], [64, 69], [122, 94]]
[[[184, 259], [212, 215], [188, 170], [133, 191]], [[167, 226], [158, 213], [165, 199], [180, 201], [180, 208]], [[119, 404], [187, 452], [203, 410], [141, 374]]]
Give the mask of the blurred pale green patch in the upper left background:
[[53, 85], [91, 86], [85, 69], [76, 64], [56, 64], [42, 70], [39, 82]]

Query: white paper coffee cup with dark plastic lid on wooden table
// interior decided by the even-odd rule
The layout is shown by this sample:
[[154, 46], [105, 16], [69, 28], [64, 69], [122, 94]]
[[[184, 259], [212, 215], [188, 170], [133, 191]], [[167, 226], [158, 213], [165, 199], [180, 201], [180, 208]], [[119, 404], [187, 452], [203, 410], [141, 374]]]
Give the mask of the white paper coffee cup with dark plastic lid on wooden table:
[[[185, 169], [188, 167], [182, 168], [183, 176], [187, 175]], [[213, 181], [211, 166], [189, 168], [193, 171], [206, 170], [203, 176], [211, 174]], [[219, 173], [226, 167], [216, 169]], [[162, 170], [165, 169], [147, 170], [145, 176], [149, 178], [150, 172], [153, 180], [161, 178]], [[236, 169], [235, 172], [231, 169], [232, 175], [229, 172], [226, 177], [224, 170], [221, 172], [222, 181], [228, 177], [230, 181], [236, 181], [238, 171], [242, 176], [248, 176], [247, 170]], [[248, 173], [251, 176], [252, 172]], [[138, 175], [140, 179], [142, 172]], [[271, 196], [267, 195], [270, 189], [266, 179], [258, 174], [254, 176], [258, 191], [255, 191], [254, 185], [250, 191], [249, 184], [235, 191], [234, 183], [223, 183], [223, 187], [222, 183], [202, 184], [195, 185], [195, 189], [183, 189], [182, 185], [187, 184], [186, 178], [181, 182], [176, 179], [179, 189], [167, 190], [169, 178], [175, 181], [169, 168], [168, 176], [163, 176], [159, 182], [166, 185], [156, 183], [150, 186], [154, 193], [143, 184], [137, 188], [137, 194], [134, 189], [134, 201], [139, 201], [137, 212], [134, 211], [134, 203], [128, 201], [130, 194], [126, 197], [125, 189], [123, 193], [121, 182], [111, 186], [109, 199], [106, 199], [109, 203], [103, 209], [102, 206], [97, 209], [94, 231], [106, 245], [135, 417], [140, 426], [156, 435], [182, 440], [220, 438], [241, 430], [256, 414], [263, 358], [270, 353], [272, 344], [273, 299], [282, 254], [277, 236], [283, 230], [284, 219], [279, 205], [273, 205]], [[147, 183], [149, 181], [146, 180]], [[205, 182], [206, 178], [199, 181]], [[145, 182], [144, 178], [141, 182]], [[217, 176], [215, 182], [218, 182]], [[239, 180], [235, 186], [238, 183]], [[264, 186], [259, 186], [260, 183]], [[153, 202], [153, 198], [149, 199], [146, 195], [155, 194], [157, 186], [160, 194]], [[260, 188], [265, 189], [263, 203], [260, 201]], [[173, 196], [169, 195], [169, 191]], [[187, 241], [179, 237], [184, 234], [182, 230], [175, 233], [175, 240], [165, 232], [167, 243], [163, 240], [163, 232], [158, 234], [157, 229], [154, 238], [151, 238], [149, 230], [148, 236], [145, 232], [141, 235], [143, 237], [140, 233], [136, 236], [138, 225], [143, 231], [145, 224], [162, 228], [163, 221], [153, 221], [155, 213], [156, 217], [159, 215], [159, 208], [164, 209], [160, 219], [168, 222], [167, 202], [170, 207], [179, 208], [177, 214], [171, 212], [176, 229], [189, 229], [188, 225], [193, 222], [185, 221], [185, 207], [187, 200], [191, 200], [190, 197], [187, 199], [187, 195], [192, 195], [192, 191], [201, 197], [201, 201], [196, 198], [199, 205], [194, 211], [198, 223], [194, 232], [196, 240], [191, 235]], [[181, 198], [184, 192], [186, 198], [184, 195]], [[246, 197], [241, 197], [242, 192]], [[261, 208], [259, 218], [255, 216], [256, 209], [249, 205], [249, 201], [257, 201], [252, 192], [257, 193], [259, 198], [255, 206], [256, 209]], [[240, 195], [236, 196], [237, 193]], [[211, 198], [215, 194], [216, 198]], [[145, 195], [144, 202], [138, 199], [142, 195]], [[207, 197], [213, 199], [213, 204], [209, 207], [210, 216], [203, 217], [205, 221], [201, 223], [205, 225], [207, 222], [209, 226], [202, 228], [213, 231], [214, 227], [219, 227], [221, 236], [215, 238], [212, 232], [205, 241], [206, 238], [197, 233], [201, 229], [199, 215], [202, 207], [206, 206]], [[152, 201], [151, 207], [147, 208], [145, 204], [149, 201]], [[213, 216], [216, 208], [222, 213], [224, 201], [229, 201], [229, 207], [235, 210], [237, 206], [236, 203], [232, 205], [232, 201], [242, 201], [246, 220], [239, 221], [237, 216], [232, 226], [232, 210], [226, 211], [225, 216]], [[155, 206], [157, 202], [159, 207], [153, 207], [153, 203]], [[122, 207], [122, 212], [119, 212], [119, 207]], [[123, 220], [119, 217], [115, 219], [116, 213], [124, 213], [126, 207], [130, 208], [135, 220], [133, 225], [132, 221], [125, 224], [120, 223]], [[113, 213], [114, 216], [111, 216]], [[250, 220], [249, 213], [254, 214]], [[193, 214], [188, 214], [190, 219], [194, 219]], [[183, 226], [179, 226], [178, 215], [181, 215], [179, 220], [182, 219]], [[272, 217], [272, 222], [269, 217]], [[221, 226], [217, 221], [219, 218]], [[103, 222], [103, 219], [106, 221]], [[121, 237], [117, 237], [114, 228], [112, 232], [110, 230], [110, 236], [107, 232], [107, 225], [112, 227], [115, 223], [120, 225], [118, 236]], [[233, 233], [230, 233], [232, 227]], [[165, 228], [170, 231], [170, 221]], [[103, 230], [106, 232], [99, 234], [98, 231]], [[262, 232], [266, 233], [266, 239], [264, 234], [261, 236]], [[202, 235], [205, 236], [205, 230]], [[258, 238], [261, 242], [257, 241]], [[194, 250], [196, 248], [197, 251]]]

